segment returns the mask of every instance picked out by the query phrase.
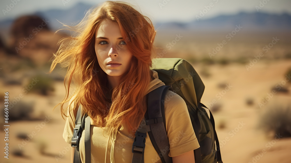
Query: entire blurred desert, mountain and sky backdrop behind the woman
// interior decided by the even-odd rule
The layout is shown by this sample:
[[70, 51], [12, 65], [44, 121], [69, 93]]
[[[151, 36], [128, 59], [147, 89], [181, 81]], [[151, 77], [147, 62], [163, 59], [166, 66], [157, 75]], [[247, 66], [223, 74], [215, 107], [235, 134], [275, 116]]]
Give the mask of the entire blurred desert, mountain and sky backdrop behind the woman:
[[[62, 24], [79, 22], [98, 0], [1, 1], [1, 162], [70, 162], [62, 137], [65, 68], [49, 71]], [[205, 84], [224, 163], [290, 163], [291, 1], [130, 0], [157, 30], [157, 56], [190, 62]], [[60, 23], [61, 22], [61, 23]], [[4, 119], [4, 107], [0, 107]], [[9, 141], [3, 141], [9, 126]], [[3, 149], [4, 147], [4, 149]]]

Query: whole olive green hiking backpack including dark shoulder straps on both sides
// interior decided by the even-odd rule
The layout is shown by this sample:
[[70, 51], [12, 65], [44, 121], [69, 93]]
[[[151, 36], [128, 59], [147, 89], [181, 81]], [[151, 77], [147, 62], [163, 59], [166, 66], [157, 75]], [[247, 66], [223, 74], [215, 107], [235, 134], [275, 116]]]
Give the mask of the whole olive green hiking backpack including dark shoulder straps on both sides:
[[[135, 133], [136, 137], [132, 146], [132, 163], [144, 162], [146, 132], [148, 132], [152, 145], [162, 162], [172, 162], [172, 158], [168, 156], [169, 141], [164, 114], [164, 101], [167, 90], [180, 95], [187, 104], [191, 123], [200, 145], [200, 148], [194, 150], [195, 162], [222, 163], [213, 116], [209, 111], [209, 118], [207, 111], [204, 109], [206, 107], [200, 103], [205, 86], [193, 66], [180, 58], [160, 58], [152, 61], [155, 65], [152, 69], [158, 72], [159, 79], [165, 83], [165, 86], [161, 86], [147, 94], [148, 109], [145, 113], [145, 119]], [[85, 160], [87, 163], [91, 161], [90, 130], [86, 131], [86, 128], [90, 127], [90, 120], [86, 120], [89, 124], [87, 123], [87, 127], [85, 127], [87, 115], [85, 114], [81, 118], [80, 110], [78, 109], [76, 116], [72, 147], [77, 147], [75, 148], [74, 162], [80, 162], [79, 140], [81, 132], [85, 128]]]

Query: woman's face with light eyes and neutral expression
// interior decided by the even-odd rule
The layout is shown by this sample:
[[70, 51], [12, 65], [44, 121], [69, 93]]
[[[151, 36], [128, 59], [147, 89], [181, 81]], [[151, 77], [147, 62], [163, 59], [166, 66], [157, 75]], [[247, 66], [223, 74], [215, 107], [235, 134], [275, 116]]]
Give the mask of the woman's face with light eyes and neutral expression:
[[[102, 70], [110, 76], [123, 75], [130, 67], [132, 54], [122, 38], [117, 22], [104, 21], [95, 33], [95, 52]], [[110, 61], [114, 63], [110, 64]]]

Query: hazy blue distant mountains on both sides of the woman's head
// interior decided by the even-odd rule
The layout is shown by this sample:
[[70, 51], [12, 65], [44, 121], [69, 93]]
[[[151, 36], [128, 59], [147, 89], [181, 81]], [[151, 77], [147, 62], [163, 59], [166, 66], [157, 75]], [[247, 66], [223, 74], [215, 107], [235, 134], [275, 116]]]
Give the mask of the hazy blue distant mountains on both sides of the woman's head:
[[[61, 10], [52, 9], [46, 11], [38, 11], [35, 15], [46, 18], [49, 21], [49, 27], [56, 31], [61, 29], [62, 23], [73, 25], [80, 21], [86, 11], [92, 7], [90, 4], [78, 3], [72, 8]], [[225, 31], [234, 29], [235, 25], [244, 27], [244, 31], [252, 32], [266, 32], [266, 31], [284, 31], [290, 32], [291, 30], [291, 15], [283, 14], [269, 14], [269, 13], [246, 13], [240, 12], [235, 15], [219, 15], [210, 19], [203, 18], [198, 21], [196, 18], [191, 22], [177, 23], [155, 23], [155, 28], [162, 31]], [[6, 38], [9, 27], [13, 23], [13, 19], [7, 19], [0, 22], [0, 35]], [[59, 22], [58, 22], [59, 21]]]

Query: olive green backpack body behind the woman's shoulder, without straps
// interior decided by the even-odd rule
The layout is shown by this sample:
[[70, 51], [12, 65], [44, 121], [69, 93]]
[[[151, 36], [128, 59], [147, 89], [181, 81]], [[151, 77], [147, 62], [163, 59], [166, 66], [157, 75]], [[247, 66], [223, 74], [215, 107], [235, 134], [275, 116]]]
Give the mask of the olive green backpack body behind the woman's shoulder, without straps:
[[[203, 108], [205, 105], [200, 103], [205, 86], [193, 66], [180, 58], [160, 58], [153, 59], [152, 62], [154, 65], [152, 69], [158, 72], [159, 79], [166, 86], [171, 86], [170, 90], [180, 95], [187, 104], [192, 126], [200, 145], [200, 148], [194, 150], [195, 162], [222, 163], [213, 116], [209, 111], [209, 118], [207, 111]], [[217, 148], [215, 148], [215, 141]], [[163, 157], [168, 157], [167, 154]]]

